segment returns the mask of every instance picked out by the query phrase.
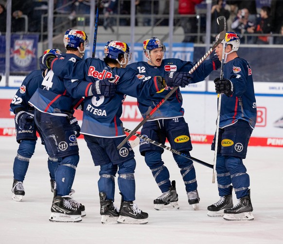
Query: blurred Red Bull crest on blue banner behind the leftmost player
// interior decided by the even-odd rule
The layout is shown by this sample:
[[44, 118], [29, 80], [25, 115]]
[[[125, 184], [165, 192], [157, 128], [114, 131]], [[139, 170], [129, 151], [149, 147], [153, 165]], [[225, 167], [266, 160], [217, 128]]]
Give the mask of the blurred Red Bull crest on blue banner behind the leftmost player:
[[14, 49], [11, 51], [11, 57], [14, 58], [14, 63], [20, 67], [27, 67], [35, 58], [34, 40], [21, 39], [16, 40]]

